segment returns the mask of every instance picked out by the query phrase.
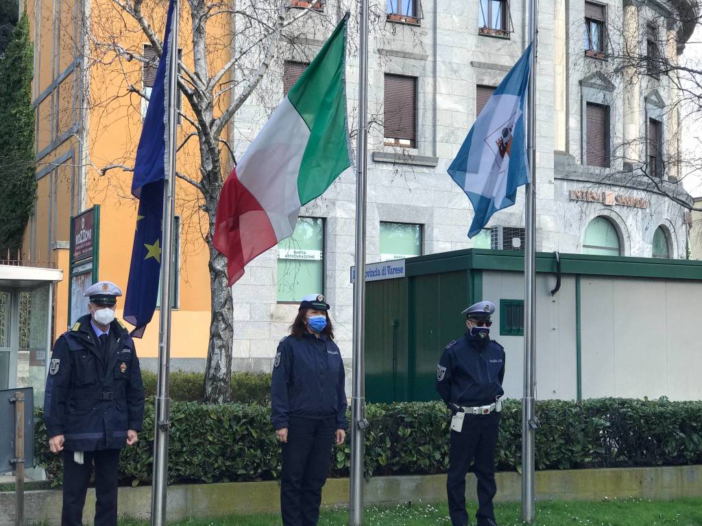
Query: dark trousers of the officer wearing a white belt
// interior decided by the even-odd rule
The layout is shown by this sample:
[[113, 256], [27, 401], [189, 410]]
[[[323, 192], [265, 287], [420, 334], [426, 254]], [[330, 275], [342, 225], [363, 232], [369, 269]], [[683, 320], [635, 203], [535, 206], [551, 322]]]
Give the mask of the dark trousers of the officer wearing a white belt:
[[470, 524], [465, 510], [465, 475], [470, 464], [478, 480], [478, 526], [494, 526], [495, 511], [492, 499], [497, 493], [495, 483], [495, 447], [500, 429], [500, 414], [466, 414], [461, 433], [451, 431], [449, 477], [446, 493], [449, 497], [449, 515], [453, 526]]

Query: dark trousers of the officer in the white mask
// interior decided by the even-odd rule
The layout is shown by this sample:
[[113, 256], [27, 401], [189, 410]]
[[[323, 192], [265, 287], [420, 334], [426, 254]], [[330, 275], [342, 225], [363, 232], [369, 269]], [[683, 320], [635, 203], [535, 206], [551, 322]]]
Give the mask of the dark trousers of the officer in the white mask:
[[95, 526], [117, 525], [117, 462], [120, 450], [86, 451], [83, 464], [73, 452], [63, 452], [63, 508], [61, 526], [82, 526], [83, 506], [95, 464]]

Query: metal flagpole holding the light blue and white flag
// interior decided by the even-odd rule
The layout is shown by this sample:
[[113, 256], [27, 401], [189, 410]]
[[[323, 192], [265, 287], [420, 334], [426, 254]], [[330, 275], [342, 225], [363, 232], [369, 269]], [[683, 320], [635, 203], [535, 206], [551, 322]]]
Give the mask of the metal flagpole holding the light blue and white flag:
[[536, 398], [536, 55], [538, 0], [529, 0], [531, 48], [529, 91], [527, 93], [527, 151], [531, 171], [524, 204], [524, 398], [522, 398], [522, 520], [534, 521], [534, 434], [538, 422], [534, 415]]

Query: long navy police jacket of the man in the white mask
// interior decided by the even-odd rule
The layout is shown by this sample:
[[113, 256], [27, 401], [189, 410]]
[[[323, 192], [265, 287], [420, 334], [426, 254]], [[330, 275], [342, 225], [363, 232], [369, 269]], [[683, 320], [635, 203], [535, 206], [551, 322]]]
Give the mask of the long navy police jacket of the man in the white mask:
[[63, 435], [69, 451], [120, 449], [127, 430], [141, 431], [144, 389], [134, 342], [110, 324], [107, 350], [82, 316], [53, 346], [44, 396], [49, 437]]

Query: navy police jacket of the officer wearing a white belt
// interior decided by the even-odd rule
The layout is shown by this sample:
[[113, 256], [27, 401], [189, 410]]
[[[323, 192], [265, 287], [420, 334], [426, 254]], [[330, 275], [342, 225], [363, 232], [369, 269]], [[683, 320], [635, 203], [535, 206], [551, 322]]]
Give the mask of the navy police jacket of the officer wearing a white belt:
[[503, 396], [505, 349], [470, 333], [444, 349], [437, 367], [437, 391], [446, 404], [476, 407]]

